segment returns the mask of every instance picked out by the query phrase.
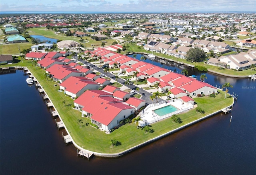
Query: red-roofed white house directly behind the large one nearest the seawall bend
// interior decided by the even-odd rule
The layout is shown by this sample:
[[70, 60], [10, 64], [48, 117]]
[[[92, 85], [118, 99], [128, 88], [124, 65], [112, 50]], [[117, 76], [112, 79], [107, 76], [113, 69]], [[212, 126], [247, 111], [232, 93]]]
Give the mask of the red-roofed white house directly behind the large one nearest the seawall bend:
[[64, 90], [72, 98], [80, 96], [86, 90], [97, 90], [99, 87], [100, 85], [91, 79], [73, 76], [60, 84], [60, 90]]

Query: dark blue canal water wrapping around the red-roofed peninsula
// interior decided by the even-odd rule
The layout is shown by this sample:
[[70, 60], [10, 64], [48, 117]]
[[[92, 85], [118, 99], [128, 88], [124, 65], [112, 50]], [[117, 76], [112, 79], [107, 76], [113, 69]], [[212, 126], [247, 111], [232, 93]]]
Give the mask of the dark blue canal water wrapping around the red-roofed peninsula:
[[[189, 74], [201, 73], [190, 70]], [[122, 157], [93, 157], [88, 161], [77, 157], [72, 144], [65, 146], [62, 131], [34, 85], [26, 84], [23, 71], [0, 75], [0, 173], [254, 175], [256, 81], [210, 73], [206, 76], [214, 86], [225, 82], [234, 86], [230, 92], [238, 94], [238, 101], [232, 113], [217, 114]]]

